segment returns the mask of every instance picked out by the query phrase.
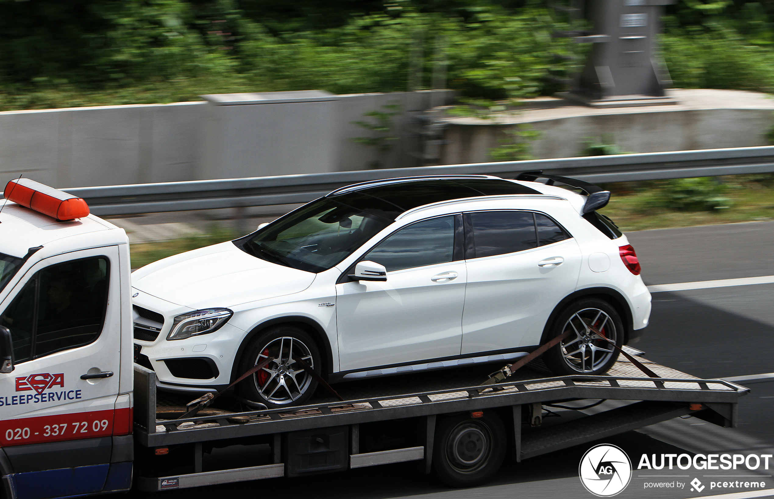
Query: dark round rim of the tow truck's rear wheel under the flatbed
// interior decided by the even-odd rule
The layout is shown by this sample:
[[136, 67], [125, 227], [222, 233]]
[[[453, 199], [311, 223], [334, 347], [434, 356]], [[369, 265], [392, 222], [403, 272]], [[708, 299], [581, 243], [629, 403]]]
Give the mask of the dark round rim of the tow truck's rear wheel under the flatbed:
[[461, 474], [481, 470], [491, 457], [491, 438], [486, 425], [472, 421], [457, 425], [447, 440], [446, 456], [450, 466]]

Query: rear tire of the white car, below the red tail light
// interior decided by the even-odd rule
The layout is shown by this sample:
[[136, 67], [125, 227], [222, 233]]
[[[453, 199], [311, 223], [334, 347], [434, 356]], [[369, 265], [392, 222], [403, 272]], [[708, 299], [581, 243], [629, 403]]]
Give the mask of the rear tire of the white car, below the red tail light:
[[604, 336], [622, 345], [624, 325], [614, 307], [598, 298], [574, 301], [553, 321], [546, 338], [551, 340], [567, 329], [572, 331], [569, 338], [543, 354], [543, 361], [554, 374], [604, 375], [618, 360], [618, 350], [588, 330], [587, 324], [594, 324]]

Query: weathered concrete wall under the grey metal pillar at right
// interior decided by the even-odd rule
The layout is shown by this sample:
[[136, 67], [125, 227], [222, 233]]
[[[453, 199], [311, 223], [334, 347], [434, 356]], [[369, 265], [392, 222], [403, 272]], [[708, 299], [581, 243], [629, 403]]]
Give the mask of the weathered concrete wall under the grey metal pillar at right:
[[[490, 120], [447, 120], [444, 164], [491, 161], [491, 148], [515, 124], [540, 131], [531, 142], [536, 159], [583, 155], [587, 141], [617, 144], [622, 151], [662, 152], [769, 145], [774, 100], [740, 90], [673, 90], [676, 106], [592, 109], [556, 103]], [[559, 101], [559, 100], [557, 100]], [[526, 104], [529, 106], [529, 103]]]

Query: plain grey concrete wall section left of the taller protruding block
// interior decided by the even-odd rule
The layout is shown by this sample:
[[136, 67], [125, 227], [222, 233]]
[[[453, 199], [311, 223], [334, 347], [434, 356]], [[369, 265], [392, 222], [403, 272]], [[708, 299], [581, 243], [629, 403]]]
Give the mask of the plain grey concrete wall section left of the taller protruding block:
[[0, 182], [59, 187], [187, 180], [204, 103], [0, 113]]

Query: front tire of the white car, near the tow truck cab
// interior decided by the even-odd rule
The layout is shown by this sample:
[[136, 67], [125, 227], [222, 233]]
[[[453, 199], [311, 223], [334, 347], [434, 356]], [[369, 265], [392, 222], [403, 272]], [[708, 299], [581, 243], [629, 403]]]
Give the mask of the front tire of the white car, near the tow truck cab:
[[320, 374], [322, 358], [313, 338], [295, 326], [279, 325], [257, 334], [245, 348], [238, 365], [238, 376], [269, 355], [275, 360], [241, 381], [237, 385], [238, 393], [245, 399], [273, 408], [303, 404], [317, 389], [317, 382], [290, 358], [291, 350], [293, 356], [305, 359], [307, 365]]

